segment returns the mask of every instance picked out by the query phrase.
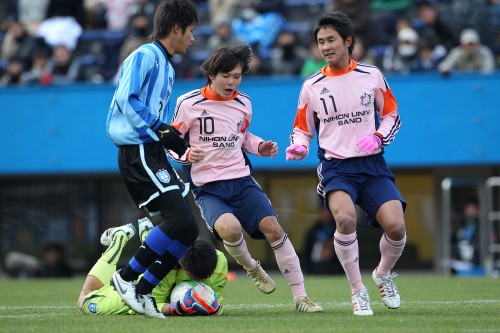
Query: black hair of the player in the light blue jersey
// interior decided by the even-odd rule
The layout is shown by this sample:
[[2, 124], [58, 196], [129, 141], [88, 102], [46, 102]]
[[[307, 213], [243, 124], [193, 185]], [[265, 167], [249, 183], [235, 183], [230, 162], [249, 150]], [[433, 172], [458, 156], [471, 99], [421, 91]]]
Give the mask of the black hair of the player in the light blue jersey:
[[166, 37], [178, 24], [184, 33], [192, 24], [198, 25], [198, 7], [191, 0], [166, 0], [156, 8], [151, 40]]

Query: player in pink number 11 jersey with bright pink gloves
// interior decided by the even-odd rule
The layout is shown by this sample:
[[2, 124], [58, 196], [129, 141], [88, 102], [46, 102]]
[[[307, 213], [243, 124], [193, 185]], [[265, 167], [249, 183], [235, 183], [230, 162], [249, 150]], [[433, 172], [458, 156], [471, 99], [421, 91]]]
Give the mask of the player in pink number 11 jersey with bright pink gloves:
[[372, 273], [384, 304], [400, 305], [391, 269], [406, 244], [406, 202], [383, 157], [401, 126], [396, 100], [377, 67], [351, 59], [356, 43], [349, 17], [322, 16], [314, 29], [327, 65], [302, 85], [287, 160], [300, 160], [318, 136], [318, 194], [337, 223], [335, 252], [352, 291], [353, 313], [370, 316], [368, 291], [359, 270], [355, 205], [383, 230], [381, 259]]

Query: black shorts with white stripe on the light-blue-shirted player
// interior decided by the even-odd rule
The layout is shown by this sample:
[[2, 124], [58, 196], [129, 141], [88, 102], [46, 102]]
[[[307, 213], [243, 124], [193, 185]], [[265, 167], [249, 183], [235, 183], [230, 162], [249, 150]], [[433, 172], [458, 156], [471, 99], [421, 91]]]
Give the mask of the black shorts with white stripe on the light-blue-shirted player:
[[147, 205], [162, 193], [181, 191], [185, 197], [189, 192], [159, 142], [120, 146], [118, 166], [130, 196], [141, 209], [148, 210]]

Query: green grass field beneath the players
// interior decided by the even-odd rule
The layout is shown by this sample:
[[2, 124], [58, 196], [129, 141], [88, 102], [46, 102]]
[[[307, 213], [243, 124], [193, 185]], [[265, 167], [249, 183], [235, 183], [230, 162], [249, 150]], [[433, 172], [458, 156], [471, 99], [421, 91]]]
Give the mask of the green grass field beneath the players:
[[363, 279], [374, 315], [352, 314], [343, 276], [306, 276], [309, 296], [324, 313], [298, 313], [281, 275], [277, 289], [257, 291], [238, 273], [224, 291], [221, 317], [87, 316], [75, 307], [82, 278], [0, 280], [0, 332], [500, 332], [500, 281], [486, 277], [457, 278], [400, 272], [395, 282], [401, 308], [380, 301], [369, 275]]

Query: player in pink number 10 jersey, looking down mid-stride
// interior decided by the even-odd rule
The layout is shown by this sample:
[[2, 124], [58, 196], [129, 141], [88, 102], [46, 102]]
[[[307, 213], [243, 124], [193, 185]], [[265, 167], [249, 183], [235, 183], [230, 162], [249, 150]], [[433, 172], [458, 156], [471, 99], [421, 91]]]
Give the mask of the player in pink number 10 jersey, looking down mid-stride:
[[248, 72], [252, 50], [248, 45], [216, 50], [201, 65], [207, 84], [177, 99], [171, 125], [190, 148], [181, 157], [193, 186], [196, 204], [214, 237], [266, 294], [276, 289], [260, 262], [248, 251], [243, 230], [254, 239], [266, 239], [280, 271], [292, 290], [299, 312], [322, 312], [306, 294], [299, 258], [281, 228], [276, 211], [260, 185], [250, 175], [246, 153], [270, 156], [276, 142], [264, 141], [248, 131], [252, 120], [250, 97], [238, 86]]

